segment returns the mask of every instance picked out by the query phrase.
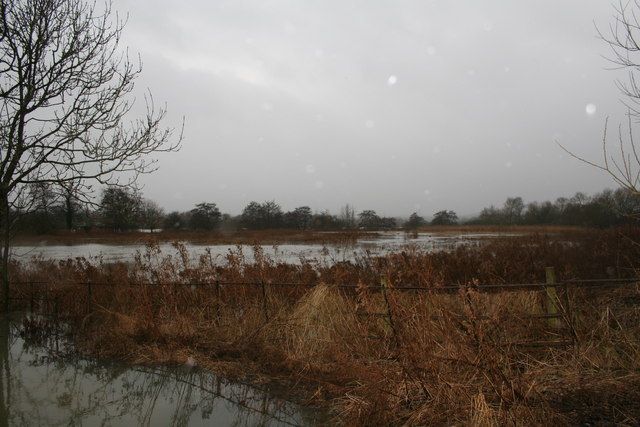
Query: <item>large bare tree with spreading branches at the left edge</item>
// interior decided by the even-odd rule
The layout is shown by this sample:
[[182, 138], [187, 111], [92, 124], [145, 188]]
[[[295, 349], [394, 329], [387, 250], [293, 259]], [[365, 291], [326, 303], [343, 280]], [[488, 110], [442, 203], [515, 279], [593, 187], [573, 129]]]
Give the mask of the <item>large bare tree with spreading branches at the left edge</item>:
[[[14, 213], [30, 184], [130, 186], [155, 170], [150, 154], [173, 151], [182, 136], [162, 127], [164, 108], [145, 97], [129, 119], [140, 61], [118, 48], [125, 22], [83, 0], [0, 0], [0, 221], [5, 308]], [[122, 174], [124, 173], [124, 174]]]

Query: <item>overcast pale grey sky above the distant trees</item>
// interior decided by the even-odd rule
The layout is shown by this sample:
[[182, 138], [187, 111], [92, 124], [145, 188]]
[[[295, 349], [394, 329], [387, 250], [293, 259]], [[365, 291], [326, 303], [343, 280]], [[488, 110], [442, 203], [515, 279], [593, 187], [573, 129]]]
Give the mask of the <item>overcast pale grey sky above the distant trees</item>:
[[167, 210], [470, 214], [614, 184], [598, 158], [624, 119], [594, 22], [600, 0], [115, 0], [138, 88], [184, 115], [178, 153], [142, 179]]

